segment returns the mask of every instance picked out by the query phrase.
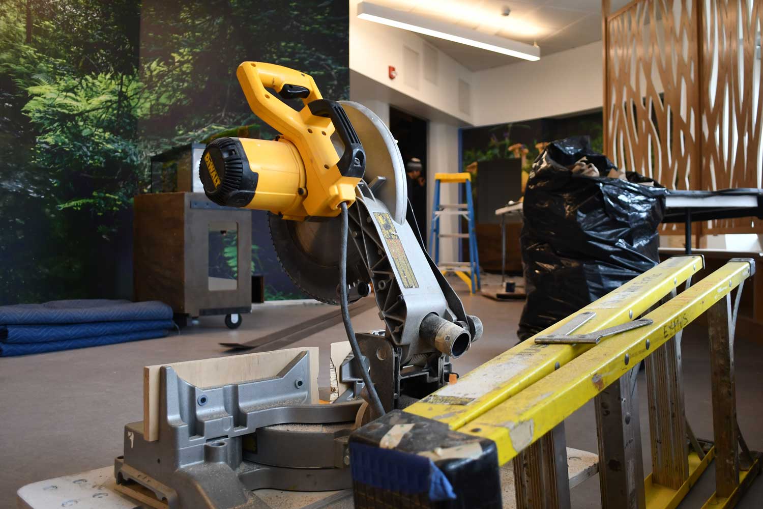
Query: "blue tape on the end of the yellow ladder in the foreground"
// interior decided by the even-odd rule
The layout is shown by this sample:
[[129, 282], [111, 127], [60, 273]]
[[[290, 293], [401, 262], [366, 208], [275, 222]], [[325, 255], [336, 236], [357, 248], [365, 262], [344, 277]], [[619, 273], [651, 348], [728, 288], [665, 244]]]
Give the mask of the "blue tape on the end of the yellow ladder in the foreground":
[[424, 456], [350, 443], [349, 457], [353, 481], [411, 495], [427, 493], [430, 501], [456, 499], [443, 471]]

